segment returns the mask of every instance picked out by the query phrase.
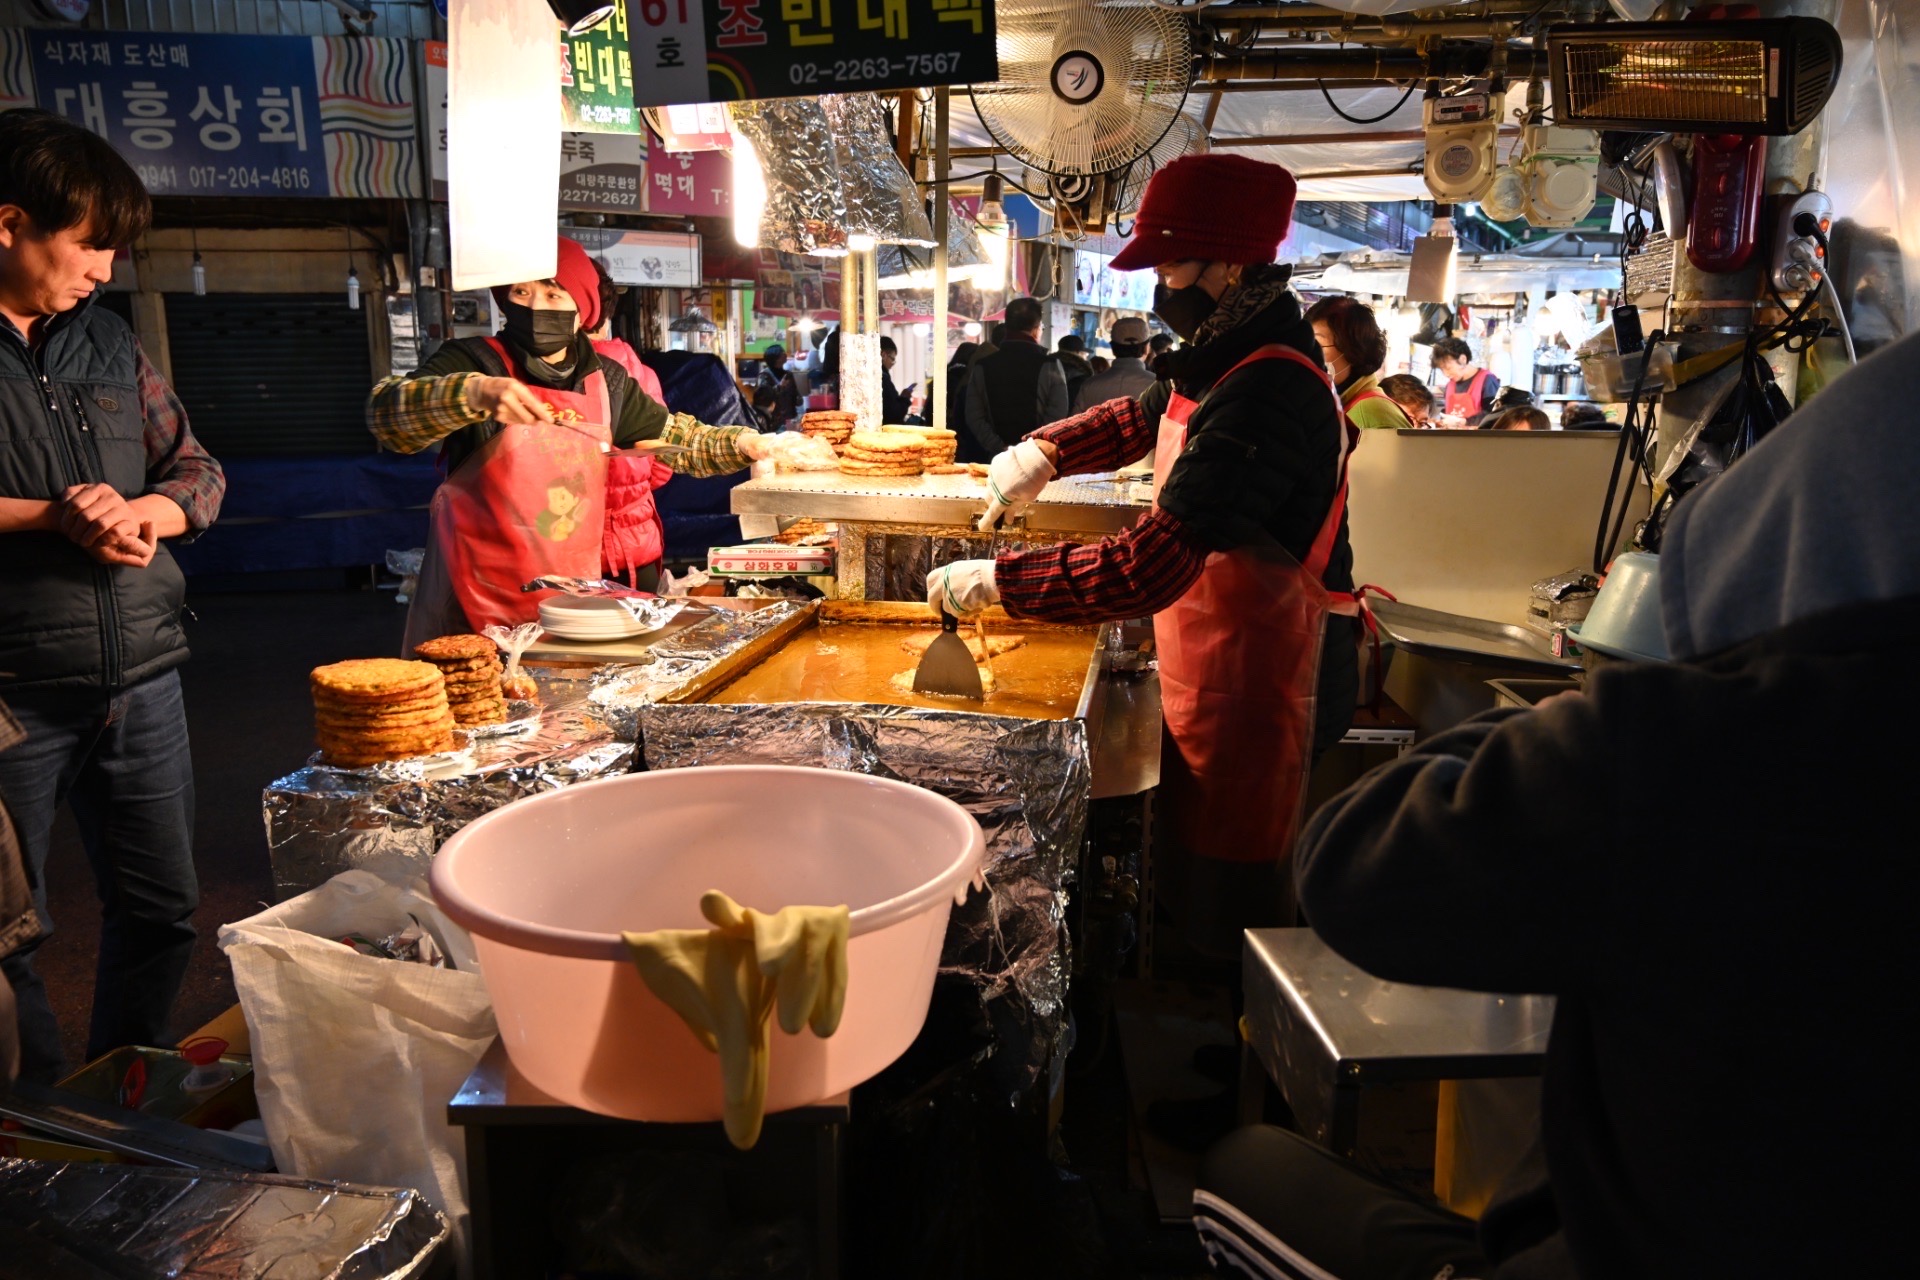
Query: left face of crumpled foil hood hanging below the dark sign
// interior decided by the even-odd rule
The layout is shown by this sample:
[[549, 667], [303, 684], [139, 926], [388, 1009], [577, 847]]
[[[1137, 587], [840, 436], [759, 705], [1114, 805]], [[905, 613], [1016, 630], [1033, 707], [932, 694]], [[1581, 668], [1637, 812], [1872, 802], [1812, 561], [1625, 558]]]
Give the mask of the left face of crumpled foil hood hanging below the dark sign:
[[841, 194], [833, 129], [818, 98], [764, 98], [733, 104], [733, 129], [753, 144], [766, 175], [760, 248], [839, 257], [847, 251], [847, 198]]

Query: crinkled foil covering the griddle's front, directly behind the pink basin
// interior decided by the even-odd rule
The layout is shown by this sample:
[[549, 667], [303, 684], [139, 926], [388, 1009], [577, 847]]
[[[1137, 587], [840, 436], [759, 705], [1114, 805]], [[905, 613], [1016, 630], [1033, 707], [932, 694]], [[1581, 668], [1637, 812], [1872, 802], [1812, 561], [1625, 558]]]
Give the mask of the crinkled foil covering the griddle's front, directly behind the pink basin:
[[1066, 890], [1092, 764], [1079, 720], [851, 702], [660, 704], [639, 712], [649, 770], [801, 764], [893, 777], [958, 802], [987, 833], [987, 894], [954, 908], [941, 973], [973, 983], [995, 1079], [1033, 1088], [1068, 1044]]

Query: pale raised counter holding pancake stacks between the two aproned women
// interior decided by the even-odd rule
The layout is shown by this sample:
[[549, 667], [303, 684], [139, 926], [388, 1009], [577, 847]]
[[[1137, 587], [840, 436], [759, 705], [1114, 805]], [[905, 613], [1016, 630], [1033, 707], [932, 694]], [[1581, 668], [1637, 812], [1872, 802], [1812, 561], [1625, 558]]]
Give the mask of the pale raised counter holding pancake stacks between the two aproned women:
[[[1068, 476], [1027, 509], [1041, 533], [1119, 533], [1152, 507], [1152, 484], [1112, 474]], [[987, 510], [987, 486], [972, 476], [843, 476], [799, 472], [749, 480], [733, 489], [737, 516], [812, 516], [866, 524], [968, 528]]]

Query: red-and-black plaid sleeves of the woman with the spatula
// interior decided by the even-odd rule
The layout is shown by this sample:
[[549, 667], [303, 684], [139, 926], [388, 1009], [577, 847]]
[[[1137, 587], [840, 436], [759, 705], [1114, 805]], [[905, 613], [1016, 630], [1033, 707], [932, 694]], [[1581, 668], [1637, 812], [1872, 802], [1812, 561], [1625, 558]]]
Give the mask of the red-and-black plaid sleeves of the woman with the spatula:
[[[1060, 449], [1060, 474], [1116, 470], [1154, 449], [1158, 424], [1135, 399], [1110, 399], [1033, 432]], [[1158, 614], [1200, 578], [1208, 549], [1158, 507], [1098, 543], [1010, 551], [995, 562], [1000, 603], [1020, 618], [1116, 622]]]

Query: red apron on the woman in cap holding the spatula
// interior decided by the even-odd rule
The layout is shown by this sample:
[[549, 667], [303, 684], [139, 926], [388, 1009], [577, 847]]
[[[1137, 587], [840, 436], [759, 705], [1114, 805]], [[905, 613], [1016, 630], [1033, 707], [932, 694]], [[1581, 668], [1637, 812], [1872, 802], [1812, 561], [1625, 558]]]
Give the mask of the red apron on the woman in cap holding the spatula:
[[[1334, 395], [1311, 359], [1277, 344], [1225, 378], [1271, 359], [1311, 368]], [[1154, 449], [1156, 489], [1187, 447], [1198, 407], [1185, 395], [1167, 405]], [[1306, 564], [1279, 547], [1215, 551], [1187, 595], [1154, 616], [1160, 702], [1173, 741], [1160, 796], [1175, 839], [1198, 858], [1279, 862], [1300, 827], [1327, 614], [1356, 610], [1354, 597], [1321, 585], [1346, 514], [1346, 455], [1359, 436], [1344, 413], [1340, 422], [1340, 484]]]

